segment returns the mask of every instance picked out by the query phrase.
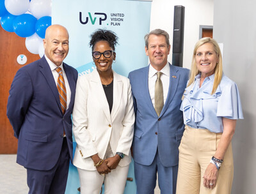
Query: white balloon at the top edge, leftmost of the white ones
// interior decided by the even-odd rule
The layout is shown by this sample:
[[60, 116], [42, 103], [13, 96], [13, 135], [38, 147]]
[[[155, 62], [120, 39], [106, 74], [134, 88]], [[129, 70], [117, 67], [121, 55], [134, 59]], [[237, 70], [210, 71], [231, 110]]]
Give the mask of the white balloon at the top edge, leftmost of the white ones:
[[5, 0], [4, 5], [12, 15], [22, 15], [29, 8], [29, 0]]

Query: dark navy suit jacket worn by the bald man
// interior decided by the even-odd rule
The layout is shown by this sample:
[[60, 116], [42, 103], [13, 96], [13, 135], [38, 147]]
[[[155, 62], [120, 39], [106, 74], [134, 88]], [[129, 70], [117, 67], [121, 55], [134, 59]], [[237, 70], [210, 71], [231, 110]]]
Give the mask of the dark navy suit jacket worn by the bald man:
[[70, 104], [61, 111], [58, 89], [45, 57], [17, 71], [8, 98], [7, 116], [18, 138], [17, 163], [35, 170], [50, 170], [60, 156], [63, 130], [72, 160], [71, 114], [77, 71], [63, 63], [70, 86]]

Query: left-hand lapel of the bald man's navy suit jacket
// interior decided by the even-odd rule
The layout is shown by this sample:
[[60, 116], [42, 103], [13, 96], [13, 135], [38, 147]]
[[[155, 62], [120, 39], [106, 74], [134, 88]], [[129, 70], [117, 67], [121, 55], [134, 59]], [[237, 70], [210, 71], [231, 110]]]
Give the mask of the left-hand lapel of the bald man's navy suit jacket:
[[50, 68], [49, 64], [47, 63], [45, 57], [42, 57], [42, 59], [40, 59], [39, 66], [40, 66], [41, 73], [44, 75], [47, 84], [51, 88], [51, 91], [56, 99], [56, 103], [58, 104], [58, 107], [60, 108], [60, 112], [62, 114], [58, 89], [56, 87], [56, 83], [54, 81], [51, 68]]

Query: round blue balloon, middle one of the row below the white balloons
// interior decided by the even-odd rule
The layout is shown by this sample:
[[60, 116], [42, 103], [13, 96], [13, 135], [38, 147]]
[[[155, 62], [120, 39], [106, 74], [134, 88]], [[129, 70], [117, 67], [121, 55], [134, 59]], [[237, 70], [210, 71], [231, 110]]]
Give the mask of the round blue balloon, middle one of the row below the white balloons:
[[36, 18], [33, 15], [24, 13], [13, 20], [14, 32], [20, 37], [32, 36], [35, 33]]

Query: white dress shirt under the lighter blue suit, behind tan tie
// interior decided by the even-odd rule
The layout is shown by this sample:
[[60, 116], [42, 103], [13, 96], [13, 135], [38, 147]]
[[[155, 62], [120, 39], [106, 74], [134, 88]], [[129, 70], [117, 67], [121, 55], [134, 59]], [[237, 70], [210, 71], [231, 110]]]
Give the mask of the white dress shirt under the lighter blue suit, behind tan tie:
[[[168, 95], [169, 84], [170, 84], [170, 66], [168, 62], [166, 63], [164, 68], [161, 70], [161, 72], [163, 73], [160, 78], [163, 83], [163, 94], [164, 94], [164, 103], [165, 103]], [[150, 64], [149, 71], [148, 71], [148, 91], [154, 107], [155, 107], [155, 84], [157, 79], [156, 73], [157, 73], [157, 70], [153, 68], [152, 65]]]

